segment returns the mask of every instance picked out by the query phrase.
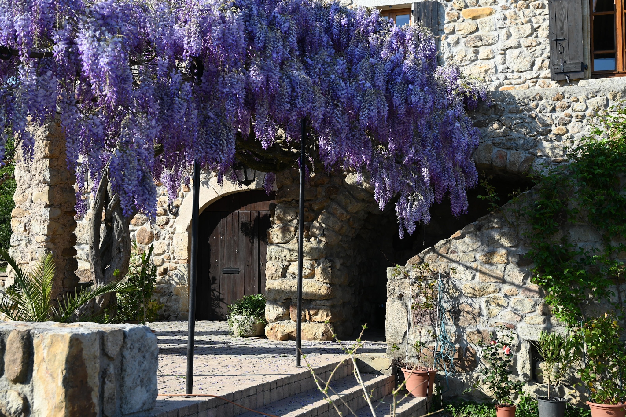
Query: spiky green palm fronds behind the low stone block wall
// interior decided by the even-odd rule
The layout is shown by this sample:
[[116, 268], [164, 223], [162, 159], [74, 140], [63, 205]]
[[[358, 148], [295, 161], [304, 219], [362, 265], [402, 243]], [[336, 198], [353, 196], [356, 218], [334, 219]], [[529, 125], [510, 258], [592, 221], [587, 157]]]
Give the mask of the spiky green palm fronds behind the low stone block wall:
[[13, 321], [109, 321], [106, 314], [78, 314], [78, 308], [102, 294], [137, 291], [135, 286], [118, 279], [106, 285], [76, 289], [64, 294], [58, 305], [51, 303], [54, 280], [54, 258], [46, 254], [31, 271], [24, 271], [4, 249], [2, 256], [13, 268], [15, 282], [4, 291], [0, 290], [0, 314]]

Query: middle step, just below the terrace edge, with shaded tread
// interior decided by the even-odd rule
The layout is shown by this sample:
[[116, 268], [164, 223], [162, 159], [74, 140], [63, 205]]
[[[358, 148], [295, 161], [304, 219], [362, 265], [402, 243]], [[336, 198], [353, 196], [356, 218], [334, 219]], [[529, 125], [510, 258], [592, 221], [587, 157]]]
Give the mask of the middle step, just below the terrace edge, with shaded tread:
[[[362, 378], [368, 393], [372, 393], [374, 400], [384, 398], [394, 388], [392, 375], [362, 374]], [[354, 411], [363, 407], [369, 409], [365, 398], [363, 398], [361, 385], [357, 383], [353, 375], [333, 381], [331, 387], [336, 394], [333, 394], [332, 391], [329, 391], [329, 394], [344, 416], [350, 414], [349, 409]], [[318, 388], [268, 404], [257, 409], [257, 411], [280, 417], [335, 416], [337, 414], [332, 404], [327, 401], [326, 396]], [[258, 416], [259, 414], [250, 411], [240, 417]]]

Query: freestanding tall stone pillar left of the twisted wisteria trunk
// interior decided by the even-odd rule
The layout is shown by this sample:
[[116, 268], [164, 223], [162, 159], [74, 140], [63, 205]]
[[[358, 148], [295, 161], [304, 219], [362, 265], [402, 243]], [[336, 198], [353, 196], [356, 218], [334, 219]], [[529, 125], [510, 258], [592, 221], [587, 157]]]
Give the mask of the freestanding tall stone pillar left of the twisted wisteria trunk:
[[[78, 277], [76, 255], [76, 221], [74, 206], [76, 176], [67, 169], [65, 138], [58, 121], [33, 126], [33, 158], [24, 158], [22, 147], [16, 150], [11, 213], [11, 249], [9, 254], [23, 268], [32, 268], [43, 255], [54, 255], [56, 274], [52, 298], [74, 289]], [[9, 273], [11, 276], [11, 273]]]

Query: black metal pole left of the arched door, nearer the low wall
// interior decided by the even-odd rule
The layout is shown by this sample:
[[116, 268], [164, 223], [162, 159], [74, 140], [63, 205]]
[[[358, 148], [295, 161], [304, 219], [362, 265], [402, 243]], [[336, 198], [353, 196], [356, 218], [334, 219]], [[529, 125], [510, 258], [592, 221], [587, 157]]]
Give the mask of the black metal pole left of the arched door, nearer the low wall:
[[198, 277], [198, 211], [200, 211], [200, 163], [193, 162], [192, 259], [189, 264], [189, 323], [187, 327], [187, 383], [185, 394], [193, 394], [193, 344], [195, 339], [195, 295]]

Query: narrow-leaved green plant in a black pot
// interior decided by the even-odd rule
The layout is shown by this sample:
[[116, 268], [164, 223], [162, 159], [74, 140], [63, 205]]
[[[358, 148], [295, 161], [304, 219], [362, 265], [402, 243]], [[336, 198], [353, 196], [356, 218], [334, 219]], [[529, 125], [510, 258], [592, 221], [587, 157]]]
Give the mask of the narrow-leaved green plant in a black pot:
[[565, 372], [578, 362], [577, 343], [571, 336], [541, 331], [536, 346], [543, 356], [543, 378], [548, 383], [548, 395], [537, 397], [539, 417], [563, 417], [567, 400], [554, 392]]

